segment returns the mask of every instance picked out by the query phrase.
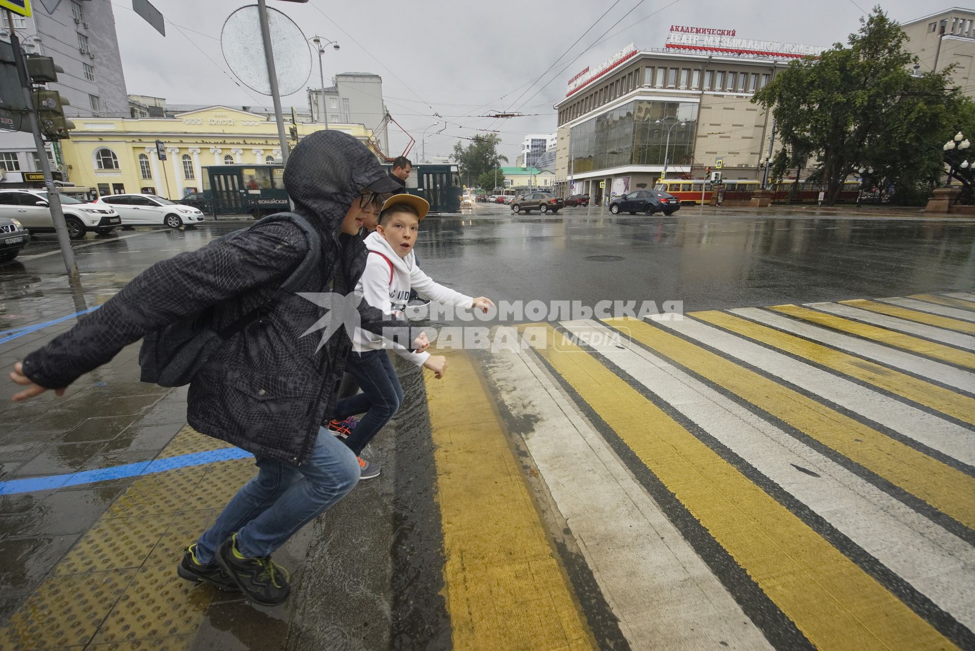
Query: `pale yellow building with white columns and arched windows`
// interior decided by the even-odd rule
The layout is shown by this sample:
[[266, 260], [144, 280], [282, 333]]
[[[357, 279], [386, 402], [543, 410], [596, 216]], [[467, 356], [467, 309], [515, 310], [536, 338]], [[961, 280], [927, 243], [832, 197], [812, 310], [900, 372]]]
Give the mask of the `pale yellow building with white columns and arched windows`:
[[[99, 195], [142, 192], [178, 199], [202, 189], [204, 167], [274, 163], [281, 155], [275, 122], [225, 106], [167, 118], [75, 118], [74, 124], [70, 139], [61, 140], [66, 179]], [[323, 127], [298, 123], [298, 137]], [[372, 134], [359, 124], [329, 129], [367, 145]], [[164, 143], [165, 161], [156, 140]]]

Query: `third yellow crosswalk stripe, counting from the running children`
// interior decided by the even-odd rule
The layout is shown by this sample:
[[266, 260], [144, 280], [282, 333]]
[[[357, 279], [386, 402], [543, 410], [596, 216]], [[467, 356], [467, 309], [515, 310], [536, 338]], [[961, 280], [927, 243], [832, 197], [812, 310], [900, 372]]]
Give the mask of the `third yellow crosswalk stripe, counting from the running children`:
[[629, 334], [647, 348], [832, 447], [965, 526], [975, 526], [975, 478], [670, 332], [632, 319], [606, 323], [628, 327]]

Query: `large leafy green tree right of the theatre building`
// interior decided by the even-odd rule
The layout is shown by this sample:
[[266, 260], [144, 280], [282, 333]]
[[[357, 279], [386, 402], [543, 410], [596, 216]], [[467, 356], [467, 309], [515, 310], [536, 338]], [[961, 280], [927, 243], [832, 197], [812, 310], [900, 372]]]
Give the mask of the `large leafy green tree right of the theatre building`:
[[793, 61], [752, 99], [775, 116], [784, 150], [775, 172], [814, 159], [810, 176], [825, 186], [829, 206], [861, 169], [885, 183], [930, 177], [940, 164], [937, 140], [960, 101], [957, 90], [945, 91], [950, 70], [911, 73], [917, 57], [879, 7], [860, 22], [848, 47]]

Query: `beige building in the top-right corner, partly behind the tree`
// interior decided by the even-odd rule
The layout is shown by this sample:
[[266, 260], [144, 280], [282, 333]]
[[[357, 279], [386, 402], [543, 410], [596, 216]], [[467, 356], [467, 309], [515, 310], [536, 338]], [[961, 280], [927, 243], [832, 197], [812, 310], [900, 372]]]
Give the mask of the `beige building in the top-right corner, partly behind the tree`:
[[901, 23], [907, 34], [905, 49], [917, 55], [920, 72], [945, 70], [963, 95], [975, 98], [975, 11], [952, 7], [937, 14]]

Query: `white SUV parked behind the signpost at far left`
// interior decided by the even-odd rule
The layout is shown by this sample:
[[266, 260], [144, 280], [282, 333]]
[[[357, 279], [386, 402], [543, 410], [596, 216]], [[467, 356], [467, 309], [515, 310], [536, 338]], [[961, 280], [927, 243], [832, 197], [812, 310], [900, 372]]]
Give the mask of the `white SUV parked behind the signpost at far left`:
[[[68, 237], [72, 240], [80, 240], [89, 231], [107, 235], [122, 222], [119, 213], [111, 206], [90, 204], [63, 194], [58, 196]], [[0, 191], [0, 217], [17, 219], [31, 234], [55, 230], [47, 190]]]

